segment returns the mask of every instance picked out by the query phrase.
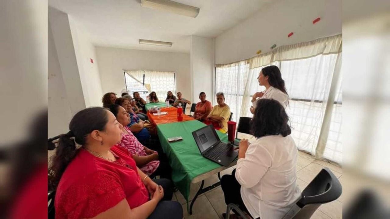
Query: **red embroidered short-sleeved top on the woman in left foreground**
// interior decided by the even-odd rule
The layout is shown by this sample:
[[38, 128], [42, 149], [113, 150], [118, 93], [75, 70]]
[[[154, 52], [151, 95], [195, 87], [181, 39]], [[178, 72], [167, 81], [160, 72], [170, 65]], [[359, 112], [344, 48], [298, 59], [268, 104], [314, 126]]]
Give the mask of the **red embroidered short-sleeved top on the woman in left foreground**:
[[128, 152], [111, 148], [117, 161], [110, 162], [81, 148], [67, 166], [55, 195], [55, 218], [90, 218], [126, 198], [130, 208], [149, 201], [149, 193]]

